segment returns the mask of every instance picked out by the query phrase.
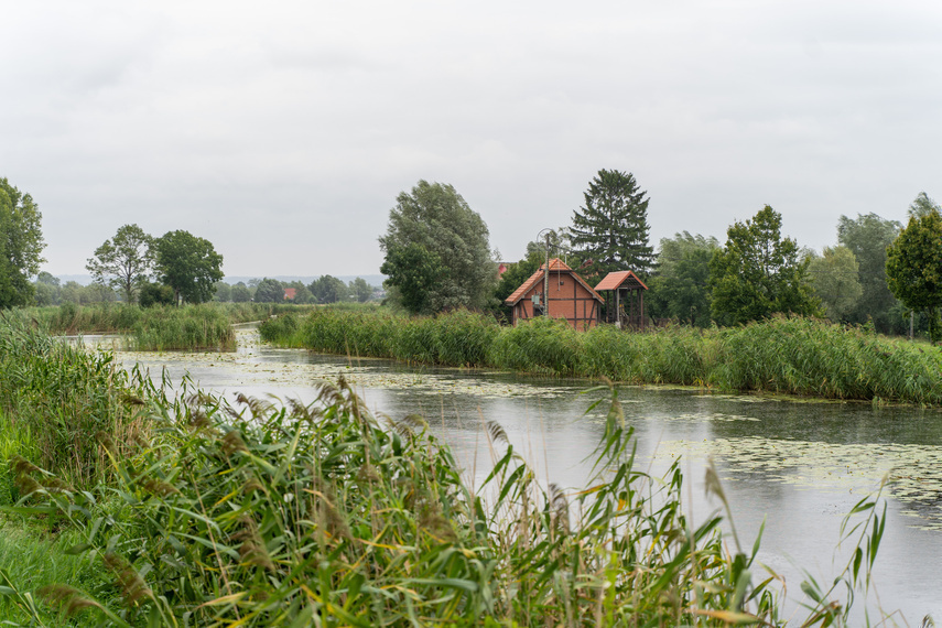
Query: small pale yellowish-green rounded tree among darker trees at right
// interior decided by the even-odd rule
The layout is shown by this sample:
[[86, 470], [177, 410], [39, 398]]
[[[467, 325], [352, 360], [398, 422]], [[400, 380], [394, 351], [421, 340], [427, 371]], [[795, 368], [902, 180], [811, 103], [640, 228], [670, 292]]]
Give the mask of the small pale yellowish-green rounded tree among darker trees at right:
[[811, 256], [808, 277], [827, 317], [834, 322], [846, 321], [864, 293], [857, 259], [847, 247], [826, 247], [823, 256]]

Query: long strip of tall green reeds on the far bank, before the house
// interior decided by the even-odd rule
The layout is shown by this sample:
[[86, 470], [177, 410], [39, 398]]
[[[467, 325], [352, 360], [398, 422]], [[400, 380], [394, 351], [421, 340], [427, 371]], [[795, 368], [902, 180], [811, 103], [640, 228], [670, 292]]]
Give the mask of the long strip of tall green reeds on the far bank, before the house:
[[809, 318], [727, 328], [684, 326], [625, 333], [576, 332], [538, 318], [501, 327], [456, 312], [408, 318], [382, 312], [318, 310], [261, 325], [286, 347], [552, 376], [678, 383], [866, 401], [942, 404], [942, 350]]

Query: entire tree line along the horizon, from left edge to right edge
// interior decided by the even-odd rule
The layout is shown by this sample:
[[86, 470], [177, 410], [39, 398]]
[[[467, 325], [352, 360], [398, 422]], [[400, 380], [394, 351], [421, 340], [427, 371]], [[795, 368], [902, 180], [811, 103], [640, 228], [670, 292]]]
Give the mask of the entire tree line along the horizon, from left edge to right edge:
[[[499, 312], [502, 301], [550, 253], [587, 280], [631, 270], [649, 286], [648, 314], [691, 325], [735, 325], [776, 313], [868, 324], [881, 333], [907, 327], [942, 336], [942, 208], [921, 193], [903, 227], [876, 214], [841, 216], [837, 241], [822, 253], [781, 234], [781, 215], [765, 206], [727, 229], [725, 243], [687, 231], [649, 241], [649, 198], [634, 174], [600, 170], [572, 224], [546, 229], [526, 256], [498, 272], [487, 225], [447, 184], [420, 181], [402, 192], [379, 238], [387, 302], [411, 313], [468, 307]], [[30, 194], [0, 178], [0, 307], [34, 302], [117, 299], [142, 305], [220, 301], [333, 303], [366, 301], [372, 289], [322, 275], [310, 284], [262, 279], [221, 282], [223, 256], [188, 231], [161, 237], [124, 225], [98, 247], [86, 268], [93, 286], [59, 285], [40, 272], [45, 260], [42, 215]], [[549, 247], [549, 250], [548, 250]], [[34, 282], [30, 278], [36, 277]], [[289, 292], [286, 292], [286, 290]]]

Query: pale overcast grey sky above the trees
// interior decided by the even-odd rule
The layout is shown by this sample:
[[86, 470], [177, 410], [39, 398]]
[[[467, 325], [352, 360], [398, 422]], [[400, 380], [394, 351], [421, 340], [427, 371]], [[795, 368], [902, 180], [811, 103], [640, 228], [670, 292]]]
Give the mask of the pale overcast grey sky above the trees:
[[53, 274], [126, 224], [208, 239], [230, 277], [376, 274], [420, 180], [507, 261], [600, 169], [648, 192], [653, 245], [768, 204], [820, 250], [841, 215], [942, 198], [935, 0], [0, 7], [0, 176]]

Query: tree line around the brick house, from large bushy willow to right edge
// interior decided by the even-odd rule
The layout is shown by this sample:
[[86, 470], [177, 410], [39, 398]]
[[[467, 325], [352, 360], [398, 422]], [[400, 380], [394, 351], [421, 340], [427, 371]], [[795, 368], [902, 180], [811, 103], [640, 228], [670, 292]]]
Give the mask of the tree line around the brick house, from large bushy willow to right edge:
[[[415, 314], [468, 307], [500, 311], [548, 253], [589, 283], [631, 270], [648, 285], [652, 318], [695, 326], [736, 325], [777, 313], [827, 317], [902, 334], [916, 322], [939, 339], [942, 208], [921, 193], [903, 227], [876, 214], [841, 216], [837, 241], [822, 253], [781, 232], [766, 205], [730, 225], [726, 242], [689, 231], [649, 241], [649, 198], [634, 174], [600, 170], [571, 225], [544, 229], [526, 256], [502, 264], [487, 226], [447, 184], [420, 181], [401, 193], [379, 238], [389, 301]], [[549, 251], [548, 251], [549, 247]]]

